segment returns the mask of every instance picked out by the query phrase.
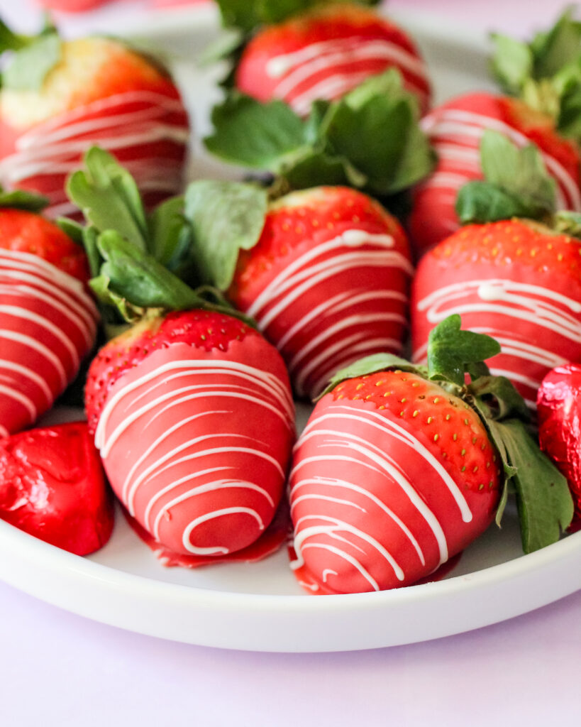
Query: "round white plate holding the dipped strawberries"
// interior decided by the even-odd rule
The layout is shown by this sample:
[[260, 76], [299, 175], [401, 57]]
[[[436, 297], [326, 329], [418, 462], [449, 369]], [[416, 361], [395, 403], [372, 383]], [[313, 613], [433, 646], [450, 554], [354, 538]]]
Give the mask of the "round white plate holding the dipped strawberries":
[[[436, 100], [491, 88], [486, 43], [452, 33], [434, 18], [397, 18], [418, 39], [436, 81]], [[190, 25], [190, 27], [188, 27]], [[187, 58], [216, 34], [211, 9], [173, 12], [139, 34], [172, 54], [198, 134], [208, 130], [219, 97], [216, 71], [192, 70]], [[105, 28], [107, 30], [107, 28]], [[461, 40], [460, 40], [461, 38]], [[200, 156], [192, 176], [232, 174]], [[304, 418], [308, 410], [301, 409]], [[61, 410], [52, 419], [78, 412]], [[166, 569], [118, 516], [105, 548], [78, 558], [0, 521], [0, 578], [56, 606], [97, 621], [185, 643], [256, 651], [344, 651], [438, 638], [486, 626], [556, 601], [581, 588], [581, 533], [523, 556], [509, 512], [469, 547], [447, 579], [381, 593], [305, 595], [285, 550], [261, 563]]]

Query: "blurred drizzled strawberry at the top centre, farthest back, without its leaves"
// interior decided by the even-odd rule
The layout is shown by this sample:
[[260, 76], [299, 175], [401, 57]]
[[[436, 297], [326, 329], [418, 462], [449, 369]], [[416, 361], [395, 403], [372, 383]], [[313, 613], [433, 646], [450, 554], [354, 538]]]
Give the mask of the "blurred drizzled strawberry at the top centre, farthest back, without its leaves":
[[[228, 0], [220, 4], [227, 11]], [[426, 113], [426, 65], [407, 33], [361, 5], [319, 3], [259, 29], [237, 61], [234, 82], [259, 101], [280, 99], [307, 116], [314, 101], [336, 100], [387, 68], [397, 68]]]

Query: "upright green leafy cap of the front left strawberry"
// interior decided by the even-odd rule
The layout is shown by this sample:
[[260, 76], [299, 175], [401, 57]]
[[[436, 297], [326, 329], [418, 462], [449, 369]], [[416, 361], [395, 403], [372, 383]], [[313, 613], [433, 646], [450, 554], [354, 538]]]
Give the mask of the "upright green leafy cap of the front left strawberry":
[[[200, 277], [195, 228], [184, 216], [183, 197], [170, 198], [147, 214], [134, 178], [98, 147], [89, 149], [84, 168], [69, 177], [67, 192], [88, 224], [60, 220], [60, 226], [86, 249], [92, 273], [89, 285], [102, 304], [111, 334], [118, 333], [123, 322], [134, 324], [148, 313], [159, 316], [193, 308], [227, 313], [253, 325]], [[244, 204], [248, 204], [248, 193]], [[222, 231], [232, 217], [238, 222], [241, 206], [225, 207], [219, 218]], [[262, 225], [258, 219], [256, 239]]]

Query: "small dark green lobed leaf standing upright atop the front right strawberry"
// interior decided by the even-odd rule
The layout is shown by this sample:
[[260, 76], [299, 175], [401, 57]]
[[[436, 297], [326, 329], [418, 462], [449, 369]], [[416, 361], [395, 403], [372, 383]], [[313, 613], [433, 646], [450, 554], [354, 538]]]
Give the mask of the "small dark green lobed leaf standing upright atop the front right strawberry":
[[463, 387], [466, 366], [500, 353], [490, 336], [460, 329], [460, 316], [448, 316], [431, 330], [428, 338], [428, 378]]

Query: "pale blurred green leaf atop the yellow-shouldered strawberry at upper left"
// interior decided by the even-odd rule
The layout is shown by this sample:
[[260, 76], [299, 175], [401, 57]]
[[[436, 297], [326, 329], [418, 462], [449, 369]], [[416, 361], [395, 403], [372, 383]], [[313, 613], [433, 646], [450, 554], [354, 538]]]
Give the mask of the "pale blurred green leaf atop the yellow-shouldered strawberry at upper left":
[[[0, 40], [1, 42], [1, 40]], [[21, 46], [2, 71], [2, 86], [15, 90], [37, 90], [62, 57], [62, 41], [57, 33], [38, 36]]]

